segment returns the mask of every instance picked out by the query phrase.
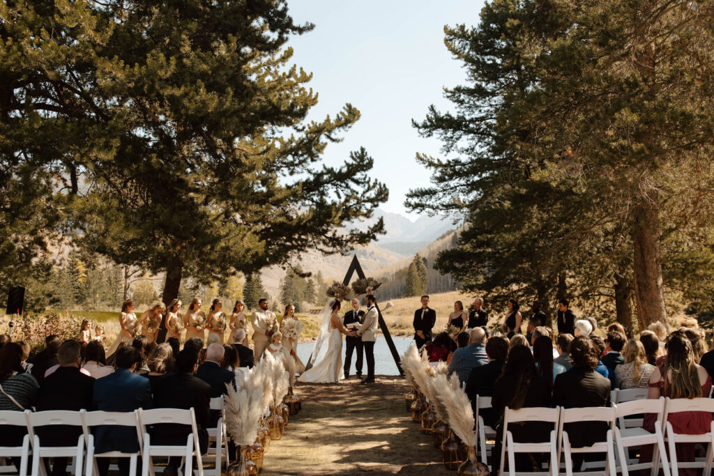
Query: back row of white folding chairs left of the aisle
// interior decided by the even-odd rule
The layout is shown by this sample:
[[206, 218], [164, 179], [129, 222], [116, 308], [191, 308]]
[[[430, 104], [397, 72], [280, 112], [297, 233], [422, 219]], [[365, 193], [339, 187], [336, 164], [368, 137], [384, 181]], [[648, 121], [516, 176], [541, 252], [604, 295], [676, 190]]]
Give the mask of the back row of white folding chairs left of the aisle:
[[[146, 427], [163, 423], [190, 425], [191, 433], [187, 437], [186, 445], [151, 444], [151, 437]], [[221, 428], [221, 424], [222, 418], [219, 421], [218, 428]], [[49, 410], [44, 412], [31, 412], [30, 410], [25, 410], [24, 412], [0, 411], [0, 426], [4, 425], [26, 427], [28, 430], [28, 435], [24, 436], [21, 446], [0, 447], [0, 457], [20, 457], [19, 476], [27, 475], [30, 454], [32, 455], [31, 476], [46, 476], [45, 467], [41, 464], [40, 458], [50, 457], [72, 457], [74, 459], [74, 475], [81, 476], [85, 454], [86, 465], [84, 465], [84, 470], [86, 476], [98, 474], [96, 467], [97, 457], [129, 457], [130, 474], [135, 476], [136, 461], [139, 455], [142, 457], [142, 476], [154, 476], [153, 456], [185, 457], [186, 467], [191, 468], [194, 455], [198, 463], [198, 476], [204, 476], [201, 452], [197, 450], [199, 448], [198, 432], [193, 408], [190, 410], [175, 408], [139, 409], [134, 412], [87, 412], [86, 410], [80, 410], [79, 412], [69, 410]], [[81, 427], [82, 435], [78, 437], [76, 445], [62, 447], [42, 446], [39, 435], [36, 435], [36, 428], [54, 425]], [[101, 425], [136, 428], [139, 452], [124, 453], [113, 451], [95, 454], [94, 435], [91, 434], [90, 429]], [[217, 445], [224, 439], [223, 431], [219, 431], [218, 434], [220, 435], [220, 440], [217, 440]], [[30, 441], [32, 442], [31, 445]], [[217, 466], [211, 471], [210, 476], [220, 476], [221, 474], [221, 450], [218, 450], [218, 453], [219, 455], [216, 458]], [[208, 471], [206, 473], [208, 474]]]

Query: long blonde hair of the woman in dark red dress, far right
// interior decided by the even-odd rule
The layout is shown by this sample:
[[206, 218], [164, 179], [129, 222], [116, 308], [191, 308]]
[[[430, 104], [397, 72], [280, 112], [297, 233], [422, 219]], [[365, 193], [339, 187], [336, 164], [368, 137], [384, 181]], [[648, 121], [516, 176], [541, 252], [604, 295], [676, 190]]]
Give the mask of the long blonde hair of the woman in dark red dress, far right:
[[[669, 373], [672, 373], [670, 381]], [[667, 343], [667, 361], [662, 370], [665, 395], [670, 398], [702, 396], [692, 343], [683, 335], [672, 334]]]

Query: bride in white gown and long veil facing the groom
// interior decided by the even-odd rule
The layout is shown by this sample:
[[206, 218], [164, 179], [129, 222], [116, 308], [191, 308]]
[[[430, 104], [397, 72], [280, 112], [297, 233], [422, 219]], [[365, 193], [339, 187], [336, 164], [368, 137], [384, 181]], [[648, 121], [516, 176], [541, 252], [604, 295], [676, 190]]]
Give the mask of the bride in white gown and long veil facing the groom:
[[315, 340], [308, 370], [298, 378], [298, 382], [338, 383], [341, 378], [344, 378], [341, 334], [352, 337], [356, 334], [342, 325], [342, 320], [337, 315], [340, 307], [340, 301], [337, 299], [331, 299], [325, 306], [322, 313], [322, 326]]

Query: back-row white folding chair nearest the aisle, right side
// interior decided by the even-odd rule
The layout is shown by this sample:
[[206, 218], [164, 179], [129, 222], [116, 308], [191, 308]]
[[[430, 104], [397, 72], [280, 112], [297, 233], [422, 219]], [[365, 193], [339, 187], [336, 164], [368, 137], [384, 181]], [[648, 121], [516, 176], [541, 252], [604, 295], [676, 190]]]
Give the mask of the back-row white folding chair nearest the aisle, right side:
[[[506, 450], [508, 450], [508, 474], [518, 475], [542, 475], [542, 472], [518, 472], [516, 473], [516, 453], [549, 453], [550, 463], [548, 472], [552, 476], [558, 475], [558, 420], [560, 419], [560, 407], [557, 408], [521, 408], [511, 410], [506, 407], [503, 412], [503, 445], [501, 445], [501, 470], [498, 474], [503, 475], [503, 466]], [[550, 422], [553, 423], [553, 430], [550, 430], [550, 440], [540, 443], [518, 443], [513, 441], [513, 433], [508, 430], [508, 425], [517, 422]]]

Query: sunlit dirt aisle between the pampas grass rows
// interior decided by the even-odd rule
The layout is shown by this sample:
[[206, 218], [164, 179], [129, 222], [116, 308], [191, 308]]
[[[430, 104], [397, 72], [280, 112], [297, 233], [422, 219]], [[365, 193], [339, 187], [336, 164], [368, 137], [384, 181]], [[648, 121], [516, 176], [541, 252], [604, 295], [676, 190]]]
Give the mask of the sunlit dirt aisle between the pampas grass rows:
[[266, 453], [263, 475], [454, 475], [404, 407], [403, 378], [296, 387], [303, 409]]

